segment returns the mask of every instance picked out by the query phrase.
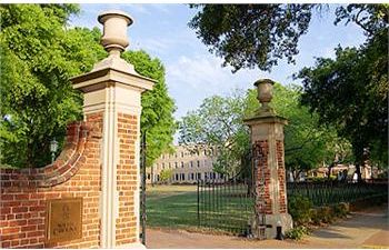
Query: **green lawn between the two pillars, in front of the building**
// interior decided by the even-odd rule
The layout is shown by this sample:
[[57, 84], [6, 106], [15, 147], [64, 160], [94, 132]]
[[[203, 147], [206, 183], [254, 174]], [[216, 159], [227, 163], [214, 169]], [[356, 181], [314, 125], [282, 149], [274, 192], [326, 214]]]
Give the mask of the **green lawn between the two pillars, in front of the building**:
[[[213, 232], [242, 233], [241, 229], [247, 227], [251, 211], [246, 211], [241, 204], [242, 198], [237, 197], [237, 191], [230, 190], [225, 196], [215, 190], [209, 202], [210, 193], [207, 189], [200, 196], [202, 214], [201, 227], [198, 220], [197, 186], [156, 186], [147, 188], [147, 227], [174, 228]], [[247, 199], [249, 202], [252, 200]], [[213, 206], [210, 207], [209, 204]], [[251, 203], [247, 206], [252, 207]], [[207, 229], [209, 228], [209, 229]]]

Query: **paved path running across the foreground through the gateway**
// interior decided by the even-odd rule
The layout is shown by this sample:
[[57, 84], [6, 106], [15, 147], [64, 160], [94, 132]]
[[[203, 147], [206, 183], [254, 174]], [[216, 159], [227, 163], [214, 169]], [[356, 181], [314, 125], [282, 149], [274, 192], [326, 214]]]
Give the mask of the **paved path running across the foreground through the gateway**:
[[302, 241], [247, 240], [183, 230], [147, 231], [148, 248], [386, 248], [389, 249], [388, 207], [352, 212], [349, 219], [313, 231]]

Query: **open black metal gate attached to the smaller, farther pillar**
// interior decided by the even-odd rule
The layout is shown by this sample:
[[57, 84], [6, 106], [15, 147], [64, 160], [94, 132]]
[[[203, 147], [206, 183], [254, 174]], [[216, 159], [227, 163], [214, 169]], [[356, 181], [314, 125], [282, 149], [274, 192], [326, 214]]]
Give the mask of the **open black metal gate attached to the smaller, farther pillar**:
[[[198, 181], [199, 227], [266, 238], [265, 172], [260, 171], [265, 158], [261, 146], [255, 143], [248, 157], [251, 159], [250, 180]], [[252, 226], [259, 231], [253, 233]]]

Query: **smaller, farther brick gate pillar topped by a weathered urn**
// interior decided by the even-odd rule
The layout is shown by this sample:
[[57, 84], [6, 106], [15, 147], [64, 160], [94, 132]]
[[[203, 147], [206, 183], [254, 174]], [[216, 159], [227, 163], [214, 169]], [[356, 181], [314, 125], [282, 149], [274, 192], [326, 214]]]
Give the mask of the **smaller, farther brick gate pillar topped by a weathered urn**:
[[283, 126], [287, 120], [268, 106], [272, 98], [272, 84], [269, 79], [255, 83], [261, 108], [253, 117], [245, 120], [250, 127], [257, 192], [255, 234], [260, 238], [259, 228], [262, 227], [266, 228], [265, 237], [268, 239], [277, 236], [277, 227], [282, 227], [283, 233], [292, 228], [287, 206], [283, 152]]

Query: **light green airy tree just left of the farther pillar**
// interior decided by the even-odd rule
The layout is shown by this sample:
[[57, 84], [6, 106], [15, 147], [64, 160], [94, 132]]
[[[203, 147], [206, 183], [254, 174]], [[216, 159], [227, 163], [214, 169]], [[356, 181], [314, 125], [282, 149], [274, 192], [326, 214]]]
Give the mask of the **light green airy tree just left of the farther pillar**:
[[241, 168], [250, 148], [248, 129], [242, 123], [245, 106], [245, 96], [239, 92], [205, 99], [199, 109], [188, 112], [179, 122], [179, 142], [194, 151], [200, 150], [197, 146], [216, 148], [213, 170], [217, 172], [236, 176], [247, 170]]

